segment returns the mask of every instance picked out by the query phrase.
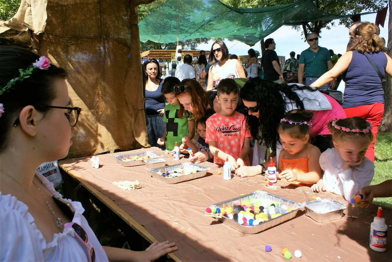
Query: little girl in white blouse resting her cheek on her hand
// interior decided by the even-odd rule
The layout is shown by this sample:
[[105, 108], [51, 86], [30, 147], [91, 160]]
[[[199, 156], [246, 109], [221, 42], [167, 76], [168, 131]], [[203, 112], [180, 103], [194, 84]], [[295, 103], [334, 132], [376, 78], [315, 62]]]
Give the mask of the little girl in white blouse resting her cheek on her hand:
[[373, 140], [372, 128], [370, 122], [358, 116], [328, 123], [335, 148], [321, 154], [319, 163], [324, 175], [312, 186], [313, 192], [328, 191], [348, 200], [370, 185], [374, 164], [365, 154]]

